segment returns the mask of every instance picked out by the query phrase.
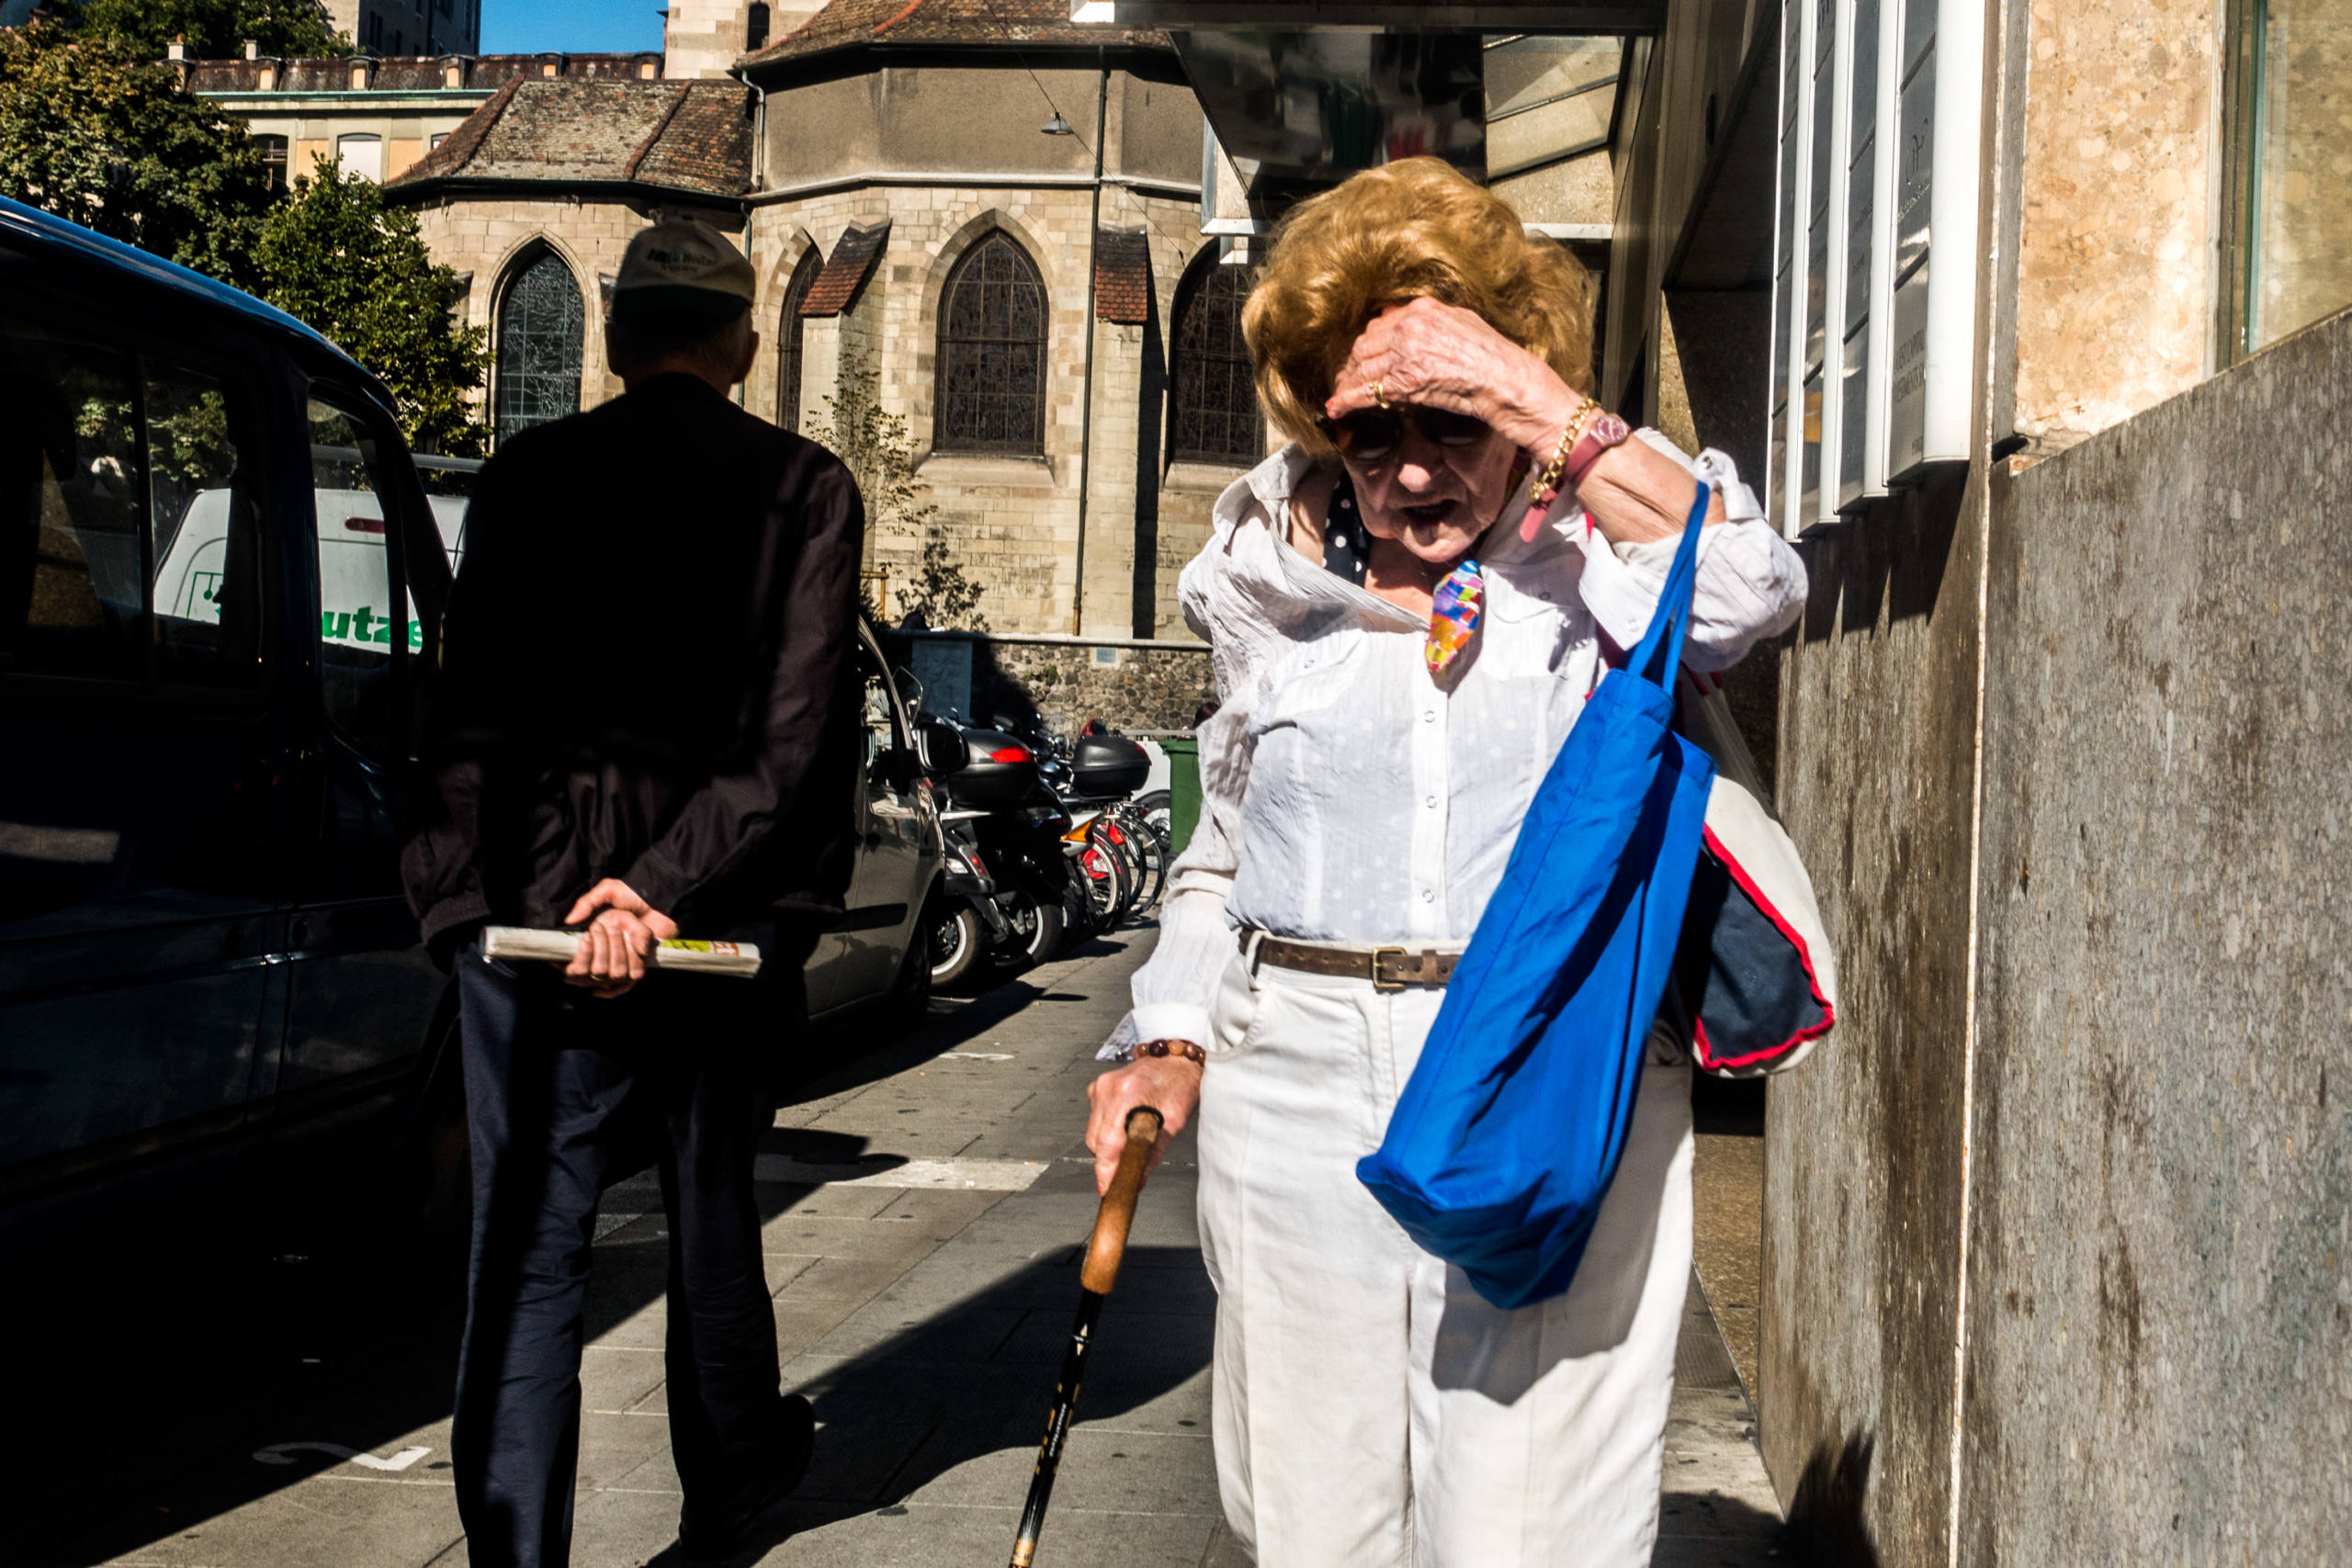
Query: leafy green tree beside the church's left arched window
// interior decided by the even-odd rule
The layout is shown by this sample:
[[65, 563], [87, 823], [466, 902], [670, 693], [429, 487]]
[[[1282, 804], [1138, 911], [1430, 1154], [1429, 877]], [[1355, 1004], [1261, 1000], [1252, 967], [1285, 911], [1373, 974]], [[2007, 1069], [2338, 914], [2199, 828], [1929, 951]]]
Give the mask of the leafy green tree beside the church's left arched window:
[[482, 454], [487, 430], [468, 393], [489, 350], [480, 327], [452, 320], [456, 273], [426, 252], [414, 212], [318, 158], [268, 214], [254, 261], [263, 299], [383, 378], [412, 447]]

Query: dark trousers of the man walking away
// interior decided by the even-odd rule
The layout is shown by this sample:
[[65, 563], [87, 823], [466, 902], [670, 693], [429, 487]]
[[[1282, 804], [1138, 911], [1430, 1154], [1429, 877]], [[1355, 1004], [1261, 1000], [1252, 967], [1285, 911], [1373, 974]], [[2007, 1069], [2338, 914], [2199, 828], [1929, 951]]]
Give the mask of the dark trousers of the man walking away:
[[788, 985], [652, 976], [600, 1001], [550, 964], [492, 964], [480, 943], [459, 954], [473, 1267], [449, 1446], [475, 1568], [572, 1559], [588, 1253], [628, 1147], [661, 1161], [666, 1392], [687, 1512], [741, 1486], [776, 1441], [753, 1154], [800, 959], [771, 947], [767, 971]]

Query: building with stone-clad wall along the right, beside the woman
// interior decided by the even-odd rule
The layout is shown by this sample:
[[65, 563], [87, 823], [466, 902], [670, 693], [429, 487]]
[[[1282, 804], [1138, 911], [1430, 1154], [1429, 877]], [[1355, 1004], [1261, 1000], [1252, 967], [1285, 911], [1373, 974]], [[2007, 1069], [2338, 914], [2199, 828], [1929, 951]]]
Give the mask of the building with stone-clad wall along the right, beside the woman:
[[1503, 12], [1635, 28], [1602, 397], [1811, 571], [1762, 665], [1842, 978], [1766, 1119], [1799, 1549], [2340, 1556], [2343, 7], [1456, 7]]

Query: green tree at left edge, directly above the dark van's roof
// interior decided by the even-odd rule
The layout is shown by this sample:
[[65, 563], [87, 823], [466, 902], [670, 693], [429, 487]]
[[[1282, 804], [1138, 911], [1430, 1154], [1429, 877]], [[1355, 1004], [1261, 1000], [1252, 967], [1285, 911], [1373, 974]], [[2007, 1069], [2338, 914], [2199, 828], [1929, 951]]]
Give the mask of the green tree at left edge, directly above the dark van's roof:
[[254, 287], [270, 205], [240, 120], [106, 33], [0, 28], [0, 195]]

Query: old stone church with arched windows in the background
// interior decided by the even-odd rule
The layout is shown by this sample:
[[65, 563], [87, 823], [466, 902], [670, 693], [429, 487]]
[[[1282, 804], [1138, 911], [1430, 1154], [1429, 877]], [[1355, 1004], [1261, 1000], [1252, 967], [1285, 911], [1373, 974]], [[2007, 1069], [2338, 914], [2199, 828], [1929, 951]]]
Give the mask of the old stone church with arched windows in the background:
[[887, 614], [936, 536], [997, 632], [1188, 637], [1176, 574], [1265, 428], [1164, 35], [1065, 0], [708, 0], [670, 28], [661, 78], [517, 75], [386, 181], [492, 336], [494, 430], [619, 393], [602, 294], [687, 214], [762, 280], [746, 407], [811, 430], [866, 371], [906, 421], [936, 512], [868, 543]]

